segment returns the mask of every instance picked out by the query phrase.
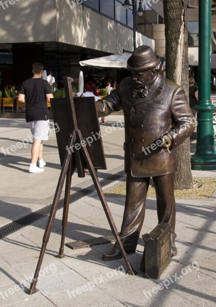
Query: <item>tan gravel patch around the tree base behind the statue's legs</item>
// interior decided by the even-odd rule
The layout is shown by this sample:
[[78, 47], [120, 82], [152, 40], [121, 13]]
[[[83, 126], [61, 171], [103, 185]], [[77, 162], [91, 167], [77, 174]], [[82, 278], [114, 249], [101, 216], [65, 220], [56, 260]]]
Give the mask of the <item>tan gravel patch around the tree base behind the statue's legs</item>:
[[[215, 178], [193, 178], [193, 188], [188, 190], [175, 190], [175, 197], [182, 199], [208, 199], [216, 189]], [[106, 191], [107, 196], [124, 196], [126, 194], [126, 183]], [[153, 180], [150, 180], [148, 197], [156, 197]]]

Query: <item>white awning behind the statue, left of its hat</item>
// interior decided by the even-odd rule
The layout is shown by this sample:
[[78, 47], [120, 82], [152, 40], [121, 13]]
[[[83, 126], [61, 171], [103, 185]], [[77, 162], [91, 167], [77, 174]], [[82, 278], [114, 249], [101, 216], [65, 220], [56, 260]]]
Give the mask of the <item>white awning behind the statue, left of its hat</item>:
[[127, 68], [127, 59], [131, 56], [131, 53], [113, 54], [108, 56], [102, 56], [95, 59], [80, 61], [81, 66], [95, 66], [95, 67], [107, 67], [107, 68]]

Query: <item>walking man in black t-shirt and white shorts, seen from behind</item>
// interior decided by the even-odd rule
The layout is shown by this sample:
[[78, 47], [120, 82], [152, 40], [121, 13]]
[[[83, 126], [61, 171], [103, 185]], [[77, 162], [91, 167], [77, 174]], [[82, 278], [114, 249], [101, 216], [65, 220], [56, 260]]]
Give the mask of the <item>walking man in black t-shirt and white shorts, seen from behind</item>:
[[26, 102], [26, 121], [29, 124], [34, 139], [29, 172], [42, 172], [46, 165], [46, 162], [42, 158], [42, 141], [48, 140], [50, 123], [47, 101], [50, 102], [53, 94], [49, 83], [41, 79], [44, 72], [44, 65], [34, 63], [32, 67], [34, 76], [23, 82], [19, 91], [18, 100]]

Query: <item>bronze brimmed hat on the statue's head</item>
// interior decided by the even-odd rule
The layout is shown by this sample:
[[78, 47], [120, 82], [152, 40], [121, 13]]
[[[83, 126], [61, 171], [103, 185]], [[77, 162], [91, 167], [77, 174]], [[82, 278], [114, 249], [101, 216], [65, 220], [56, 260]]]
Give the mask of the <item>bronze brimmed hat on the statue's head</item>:
[[159, 56], [149, 46], [136, 48], [127, 60], [127, 68], [132, 71], [147, 71], [160, 64]]

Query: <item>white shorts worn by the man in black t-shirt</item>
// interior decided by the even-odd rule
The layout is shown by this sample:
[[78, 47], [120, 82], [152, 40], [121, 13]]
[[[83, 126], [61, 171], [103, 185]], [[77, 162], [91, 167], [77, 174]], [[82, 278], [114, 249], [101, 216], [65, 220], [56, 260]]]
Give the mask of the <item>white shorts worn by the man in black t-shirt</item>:
[[49, 139], [50, 120], [34, 120], [28, 122], [34, 140], [47, 141]]

